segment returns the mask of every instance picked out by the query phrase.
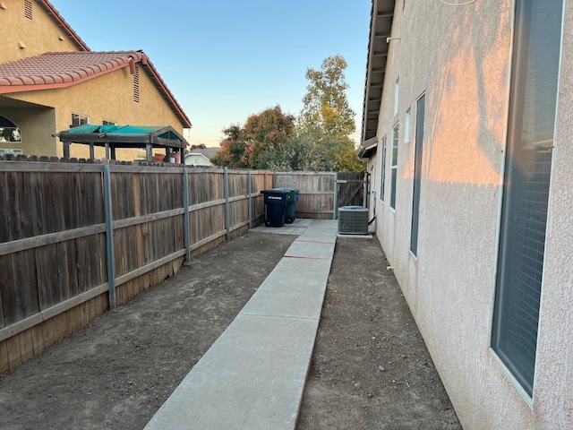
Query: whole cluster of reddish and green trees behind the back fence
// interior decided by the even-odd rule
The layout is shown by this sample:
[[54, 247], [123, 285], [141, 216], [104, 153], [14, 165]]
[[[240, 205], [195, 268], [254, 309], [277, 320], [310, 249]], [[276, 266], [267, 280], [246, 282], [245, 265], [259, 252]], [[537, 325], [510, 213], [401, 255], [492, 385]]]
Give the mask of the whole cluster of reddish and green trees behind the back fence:
[[361, 171], [356, 158], [355, 112], [346, 99], [346, 61], [329, 56], [321, 70], [307, 69], [309, 84], [304, 107], [295, 118], [279, 106], [249, 116], [244, 126], [232, 125], [221, 142], [223, 150], [211, 159], [217, 166], [269, 170]]

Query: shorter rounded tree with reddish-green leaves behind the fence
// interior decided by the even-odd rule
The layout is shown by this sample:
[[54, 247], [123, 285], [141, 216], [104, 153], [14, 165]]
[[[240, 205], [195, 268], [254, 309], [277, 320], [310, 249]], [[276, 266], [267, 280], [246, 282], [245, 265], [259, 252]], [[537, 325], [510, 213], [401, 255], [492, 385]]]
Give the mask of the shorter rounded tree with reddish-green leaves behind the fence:
[[[284, 114], [279, 106], [270, 107], [249, 116], [244, 126], [232, 125], [223, 130], [223, 150], [211, 162], [230, 168], [261, 168], [257, 162], [261, 152], [287, 153], [294, 127], [293, 116]], [[269, 159], [269, 154], [266, 157]]]

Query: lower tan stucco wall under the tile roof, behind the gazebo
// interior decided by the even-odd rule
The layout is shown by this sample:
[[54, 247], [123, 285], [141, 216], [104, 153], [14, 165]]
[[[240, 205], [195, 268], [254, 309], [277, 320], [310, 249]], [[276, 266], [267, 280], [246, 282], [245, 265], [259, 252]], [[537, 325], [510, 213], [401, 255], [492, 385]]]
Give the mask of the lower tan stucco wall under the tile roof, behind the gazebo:
[[[140, 68], [140, 102], [133, 101], [133, 75], [129, 67], [107, 73], [86, 82], [58, 90], [29, 91], [6, 95], [46, 107], [54, 107], [56, 112], [55, 126], [42, 129], [38, 145], [28, 146], [29, 140], [22, 142], [27, 155], [63, 156], [64, 148], [53, 133], [67, 130], [72, 124], [72, 114], [78, 113], [90, 116], [90, 124], [102, 124], [103, 120], [114, 121], [118, 125], [171, 125], [179, 133], [183, 133], [183, 124], [151, 81], [143, 66]], [[15, 121], [14, 121], [15, 122]], [[21, 126], [22, 133], [26, 128]], [[35, 125], [39, 127], [39, 125]], [[31, 152], [34, 150], [35, 152]], [[154, 150], [159, 152], [160, 150]], [[117, 159], [133, 160], [144, 155], [143, 150], [117, 150]], [[90, 150], [87, 145], [73, 144], [71, 156], [89, 158]], [[105, 150], [96, 148], [97, 159], [105, 157]]]

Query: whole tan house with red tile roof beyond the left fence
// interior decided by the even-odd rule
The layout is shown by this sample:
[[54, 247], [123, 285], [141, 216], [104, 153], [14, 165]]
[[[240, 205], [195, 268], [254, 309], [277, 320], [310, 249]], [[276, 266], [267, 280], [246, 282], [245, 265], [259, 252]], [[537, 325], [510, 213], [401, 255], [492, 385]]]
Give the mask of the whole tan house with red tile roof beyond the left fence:
[[[142, 51], [90, 51], [47, 0], [2, 2], [0, 19], [11, 24], [0, 29], [0, 152], [62, 156], [54, 134], [76, 125], [191, 127]], [[71, 156], [89, 149], [72, 145]]]

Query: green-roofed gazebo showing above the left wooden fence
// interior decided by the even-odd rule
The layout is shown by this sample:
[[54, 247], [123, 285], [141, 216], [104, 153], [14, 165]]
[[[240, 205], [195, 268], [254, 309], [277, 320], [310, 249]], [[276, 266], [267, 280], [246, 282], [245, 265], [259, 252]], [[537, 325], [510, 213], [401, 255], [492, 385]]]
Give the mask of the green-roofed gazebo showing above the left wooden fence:
[[172, 153], [183, 155], [187, 141], [172, 126], [155, 125], [80, 125], [56, 133], [64, 143], [64, 157], [70, 157], [70, 145], [90, 145], [90, 159], [94, 159], [94, 147], [106, 148], [106, 158], [115, 159], [115, 149], [133, 148], [146, 151], [146, 159], [152, 160], [153, 148], [165, 150], [166, 159]]

